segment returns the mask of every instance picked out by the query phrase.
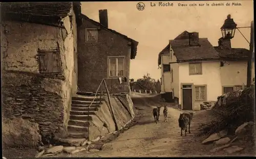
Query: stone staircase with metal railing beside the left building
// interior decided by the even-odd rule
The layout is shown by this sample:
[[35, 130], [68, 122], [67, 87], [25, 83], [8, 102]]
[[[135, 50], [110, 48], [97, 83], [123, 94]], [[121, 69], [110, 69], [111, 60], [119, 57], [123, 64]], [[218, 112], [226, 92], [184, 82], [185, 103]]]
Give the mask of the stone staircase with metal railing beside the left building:
[[[68, 138], [88, 138], [88, 121], [92, 121], [92, 115], [95, 115], [101, 107], [100, 95], [94, 96], [93, 93], [77, 92], [77, 95], [72, 97]], [[102, 96], [101, 101], [105, 100]], [[92, 103], [93, 99], [94, 102]]]

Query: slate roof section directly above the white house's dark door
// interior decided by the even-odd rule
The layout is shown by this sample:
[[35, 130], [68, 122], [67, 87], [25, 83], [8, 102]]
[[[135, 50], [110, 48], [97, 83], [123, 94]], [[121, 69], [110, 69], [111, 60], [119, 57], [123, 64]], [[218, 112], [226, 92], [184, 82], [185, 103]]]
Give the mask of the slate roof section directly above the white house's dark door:
[[199, 38], [200, 47], [189, 46], [188, 39], [170, 40], [170, 46], [174, 50], [177, 62], [219, 59], [218, 52], [207, 38]]

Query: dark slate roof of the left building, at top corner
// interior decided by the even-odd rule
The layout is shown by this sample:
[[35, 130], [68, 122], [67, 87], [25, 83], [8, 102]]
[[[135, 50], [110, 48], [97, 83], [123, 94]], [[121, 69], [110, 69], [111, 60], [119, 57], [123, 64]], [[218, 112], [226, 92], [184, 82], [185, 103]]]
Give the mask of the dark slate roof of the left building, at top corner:
[[[73, 5], [80, 6], [80, 2], [73, 2]], [[73, 5], [72, 2], [3, 2], [1, 18], [59, 26], [61, 18], [69, 15]]]

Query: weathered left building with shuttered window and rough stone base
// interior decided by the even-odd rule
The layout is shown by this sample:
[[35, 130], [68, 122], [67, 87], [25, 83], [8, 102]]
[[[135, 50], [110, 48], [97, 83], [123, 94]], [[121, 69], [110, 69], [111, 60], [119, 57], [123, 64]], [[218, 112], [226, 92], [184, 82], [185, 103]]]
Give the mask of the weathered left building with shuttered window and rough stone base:
[[42, 136], [67, 128], [80, 10], [80, 2], [1, 3], [3, 118], [38, 123]]

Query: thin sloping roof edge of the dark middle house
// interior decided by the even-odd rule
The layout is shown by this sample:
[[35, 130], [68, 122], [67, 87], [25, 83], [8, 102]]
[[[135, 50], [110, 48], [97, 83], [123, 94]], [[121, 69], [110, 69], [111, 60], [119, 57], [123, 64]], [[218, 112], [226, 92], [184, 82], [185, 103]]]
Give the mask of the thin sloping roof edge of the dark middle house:
[[104, 27], [104, 26], [101, 25], [99, 22], [97, 22], [97, 21], [95, 21], [95, 20], [93, 20], [93, 19], [90, 19], [88, 16], [86, 16], [86, 15], [84, 15], [84, 14], [81, 14], [80, 16], [81, 16], [81, 18], [84, 18], [84, 19], [87, 19], [87, 20], [92, 21], [95, 25], [100, 26], [101, 28], [103, 28], [103, 29], [105, 29], [105, 30], [108, 30], [108, 31], [110, 31], [110, 32], [112, 32], [112, 33], [114, 33], [114, 34], [120, 35], [120, 36], [123, 37], [124, 39], [127, 39], [127, 40], [131, 41], [131, 42], [132, 42], [132, 47], [131, 47], [131, 48], [132, 48], [132, 49], [131, 49], [131, 52], [132, 52], [132, 53], [131, 53], [131, 59], [135, 59], [135, 57], [136, 57], [136, 55], [137, 55], [137, 46], [138, 46], [138, 44], [139, 44], [138, 41], [135, 41], [134, 39], [131, 39], [131, 38], [127, 37], [126, 35], [123, 35], [123, 34], [117, 32], [117, 31], [115, 31], [115, 30], [112, 30], [112, 29], [109, 29], [109, 28]]

